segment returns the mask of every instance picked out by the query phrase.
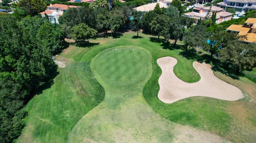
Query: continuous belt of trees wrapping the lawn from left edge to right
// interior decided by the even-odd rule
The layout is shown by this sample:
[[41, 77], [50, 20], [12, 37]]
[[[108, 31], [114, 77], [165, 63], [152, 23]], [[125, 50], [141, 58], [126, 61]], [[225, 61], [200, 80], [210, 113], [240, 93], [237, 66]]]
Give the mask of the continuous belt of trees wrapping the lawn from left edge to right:
[[[144, 14], [133, 11], [134, 4], [128, 3], [140, 5], [145, 1], [131, 0], [125, 4], [116, 0], [109, 11], [108, 2], [96, 0], [90, 6], [69, 8], [59, 18], [59, 25], [38, 16], [46, 6], [43, 0], [20, 0], [12, 15], [0, 16], [0, 142], [10, 143], [20, 135], [24, 126], [22, 119], [26, 116], [22, 110], [24, 102], [47, 81], [52, 70], [52, 55], [61, 50], [64, 37], [85, 41], [107, 31], [115, 36], [123, 29], [137, 31], [139, 36], [138, 31], [142, 29], [144, 33], [156, 35], [157, 40], [163, 36], [166, 43], [173, 39], [174, 48], [177, 41], [182, 40], [184, 56], [188, 49], [201, 46], [210, 57], [220, 53], [222, 62], [238, 72], [256, 66], [256, 45], [241, 42], [244, 36], [216, 30], [215, 14], [208, 17], [208, 23], [200, 20], [198, 25], [192, 25], [194, 20], [180, 16], [183, 8], [178, 0], [173, 0], [169, 8], [160, 8], [157, 4], [153, 11]], [[250, 13], [246, 17], [254, 16]], [[219, 25], [217, 27], [223, 29]]]

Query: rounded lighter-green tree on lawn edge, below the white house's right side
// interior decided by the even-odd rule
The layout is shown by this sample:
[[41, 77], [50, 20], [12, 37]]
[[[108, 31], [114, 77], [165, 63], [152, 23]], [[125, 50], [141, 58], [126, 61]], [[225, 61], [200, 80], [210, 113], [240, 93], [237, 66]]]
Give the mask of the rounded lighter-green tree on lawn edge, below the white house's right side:
[[89, 28], [89, 26], [85, 23], [80, 23], [79, 25], [74, 26], [71, 30], [73, 31], [72, 38], [76, 41], [85, 41], [86, 39], [90, 39], [97, 33], [96, 30], [94, 30], [93, 28]]

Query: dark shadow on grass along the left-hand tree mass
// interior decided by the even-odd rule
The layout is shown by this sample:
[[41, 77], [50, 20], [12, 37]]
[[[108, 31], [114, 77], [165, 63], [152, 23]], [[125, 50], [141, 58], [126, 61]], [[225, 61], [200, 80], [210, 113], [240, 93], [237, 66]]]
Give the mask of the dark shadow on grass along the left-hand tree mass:
[[57, 69], [58, 69], [58, 65], [54, 63], [52, 65], [52, 69], [50, 70], [49, 77], [44, 79], [44, 84], [41, 85], [38, 89], [32, 91], [29, 94], [29, 96], [26, 96], [24, 104], [27, 104], [29, 102], [29, 100], [32, 99], [35, 95], [40, 95], [43, 93], [44, 90], [52, 87], [52, 84], [54, 84], [55, 77], [59, 74]]

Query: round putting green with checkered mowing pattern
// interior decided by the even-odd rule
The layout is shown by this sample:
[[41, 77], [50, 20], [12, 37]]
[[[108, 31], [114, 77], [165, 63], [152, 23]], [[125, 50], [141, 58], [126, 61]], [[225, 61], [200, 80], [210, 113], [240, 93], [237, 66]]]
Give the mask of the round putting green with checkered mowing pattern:
[[116, 86], [137, 83], [147, 74], [148, 53], [142, 48], [110, 48], [95, 56], [96, 72], [103, 81]]

